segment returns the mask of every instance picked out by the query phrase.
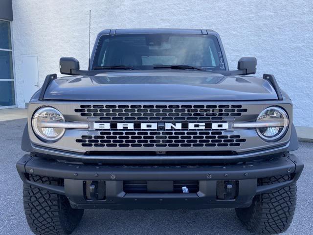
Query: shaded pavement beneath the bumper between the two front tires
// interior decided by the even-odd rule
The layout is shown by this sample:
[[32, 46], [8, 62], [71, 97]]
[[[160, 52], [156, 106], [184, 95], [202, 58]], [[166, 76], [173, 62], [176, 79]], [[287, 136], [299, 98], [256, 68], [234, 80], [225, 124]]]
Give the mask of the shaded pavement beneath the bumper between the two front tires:
[[85, 210], [73, 235], [249, 235], [234, 209]]

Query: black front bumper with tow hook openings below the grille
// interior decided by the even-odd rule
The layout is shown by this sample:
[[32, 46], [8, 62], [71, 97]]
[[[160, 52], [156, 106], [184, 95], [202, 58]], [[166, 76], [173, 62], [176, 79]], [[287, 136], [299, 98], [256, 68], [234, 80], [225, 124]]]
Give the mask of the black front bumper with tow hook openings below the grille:
[[[228, 165], [68, 164], [30, 155], [24, 155], [17, 163], [24, 183], [66, 195], [73, 208], [109, 209], [248, 207], [255, 195], [296, 182], [303, 167], [304, 164], [292, 154], [269, 161]], [[29, 180], [30, 175], [59, 178], [64, 184], [41, 184]], [[290, 180], [271, 185], [259, 183], [263, 178], [284, 175], [290, 175]], [[105, 198], [87, 197], [86, 182], [90, 181], [105, 182]], [[124, 189], [126, 181], [153, 182], [155, 188], [172, 181], [196, 181], [199, 188], [193, 193], [129, 193]], [[234, 198], [221, 200], [217, 196], [221, 182], [235, 182]]]

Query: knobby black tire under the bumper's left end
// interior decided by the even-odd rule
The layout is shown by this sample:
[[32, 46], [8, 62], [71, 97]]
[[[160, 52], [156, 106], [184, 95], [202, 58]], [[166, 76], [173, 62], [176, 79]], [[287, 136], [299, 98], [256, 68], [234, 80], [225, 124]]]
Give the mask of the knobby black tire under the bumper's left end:
[[[58, 179], [30, 175], [30, 180], [42, 184], [60, 185]], [[84, 210], [72, 209], [67, 197], [27, 184], [23, 187], [27, 223], [36, 235], [71, 234], [80, 222]]]

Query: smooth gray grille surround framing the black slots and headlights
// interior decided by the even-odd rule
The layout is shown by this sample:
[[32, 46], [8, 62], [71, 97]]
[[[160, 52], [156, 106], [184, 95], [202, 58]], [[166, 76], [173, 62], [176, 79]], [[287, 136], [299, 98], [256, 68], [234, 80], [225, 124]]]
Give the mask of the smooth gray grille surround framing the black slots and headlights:
[[[277, 142], [265, 142], [263, 141], [256, 133], [255, 129], [232, 129], [229, 128], [225, 131], [232, 131], [234, 135], [240, 135], [242, 138], [246, 139], [246, 142], [241, 143], [240, 146], [234, 146], [234, 147], [218, 147], [218, 148], [208, 148], [208, 147], [154, 147], [154, 148], [145, 148], [145, 147], [132, 147], [132, 148], [121, 148], [121, 147], [104, 147], [104, 148], [95, 148], [95, 147], [82, 147], [80, 143], [77, 143], [75, 140], [80, 139], [83, 135], [88, 135], [89, 132], [96, 131], [93, 129], [92, 123], [97, 122], [98, 117], [91, 117], [92, 119], [89, 119], [89, 117], [82, 117], [78, 113], [74, 112], [74, 109], [80, 108], [80, 105], [103, 105], [103, 104], [109, 104], [109, 105], [232, 105], [232, 104], [238, 104], [242, 105], [242, 108], [247, 109], [247, 112], [244, 113], [242, 116], [238, 117], [223, 117], [223, 121], [227, 122], [246, 122], [246, 121], [255, 121], [258, 115], [266, 108], [270, 106], [279, 106], [282, 107], [286, 112], [288, 113], [288, 116], [290, 117], [290, 123], [292, 123], [292, 104], [290, 100], [283, 100], [283, 101], [277, 101], [277, 100], [263, 100], [263, 101], [48, 101], [45, 100], [45, 102], [31, 102], [28, 107], [28, 132], [29, 137], [31, 139], [32, 144], [36, 146], [41, 146], [47, 149], [54, 149], [54, 154], [58, 154], [58, 151], [64, 151], [67, 153], [77, 153], [77, 154], [86, 154], [90, 151], [98, 151], [102, 152], [103, 158], [105, 157], [105, 152], [145, 152], [145, 151], [176, 151], [187, 153], [190, 152], [194, 154], [195, 152], [205, 152], [205, 151], [214, 151], [216, 154], [219, 152], [223, 153], [225, 151], [232, 151], [234, 154], [241, 154], [241, 153], [247, 153], [247, 152], [255, 152], [262, 149], [270, 149], [275, 148], [279, 146], [285, 146], [288, 141], [290, 140], [291, 135], [291, 128], [289, 126], [288, 131], [286, 135], [280, 139]], [[40, 107], [42, 106], [51, 106], [56, 109], [58, 109], [65, 117], [66, 121], [78, 121], [78, 122], [86, 122], [88, 121], [90, 124], [89, 130], [74, 130], [74, 129], [67, 129], [66, 133], [64, 134], [63, 138], [61, 138], [59, 141], [54, 143], [44, 143], [40, 141], [33, 133], [31, 129], [31, 115]], [[228, 119], [231, 118], [231, 119]], [[120, 122], [120, 121], [117, 121]], [[132, 121], [133, 122], [133, 121]], [[140, 122], [140, 121], [139, 121]], [[146, 122], [146, 121], [145, 121]], [[155, 121], [153, 121], [155, 122]], [[169, 121], [174, 122], [174, 121]], [[181, 121], [179, 121], [181, 122]], [[191, 121], [195, 122], [195, 121]], [[210, 121], [209, 121], [210, 122]], [[220, 121], [218, 121], [220, 122]], [[291, 124], [290, 124], [291, 125]], [[36, 150], [37, 151], [37, 150]], [[61, 153], [60, 153], [61, 154]], [[127, 153], [123, 153], [125, 158], [132, 158], [127, 156]], [[87, 158], [87, 157], [86, 157]], [[89, 158], [89, 157], [88, 157]], [[102, 158], [101, 156], [97, 157], [91, 157], [91, 158]], [[175, 157], [179, 159], [179, 155]]]

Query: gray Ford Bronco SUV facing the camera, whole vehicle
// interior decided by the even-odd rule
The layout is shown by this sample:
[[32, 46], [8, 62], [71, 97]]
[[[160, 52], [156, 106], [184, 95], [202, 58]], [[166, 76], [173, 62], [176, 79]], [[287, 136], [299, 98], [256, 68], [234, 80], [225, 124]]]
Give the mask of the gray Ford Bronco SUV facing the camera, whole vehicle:
[[29, 102], [17, 163], [36, 235], [84, 209], [235, 208], [247, 230], [286, 231], [303, 164], [290, 97], [256, 59], [230, 71], [218, 33], [107, 29], [89, 69], [60, 59]]

